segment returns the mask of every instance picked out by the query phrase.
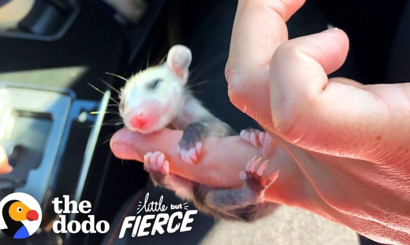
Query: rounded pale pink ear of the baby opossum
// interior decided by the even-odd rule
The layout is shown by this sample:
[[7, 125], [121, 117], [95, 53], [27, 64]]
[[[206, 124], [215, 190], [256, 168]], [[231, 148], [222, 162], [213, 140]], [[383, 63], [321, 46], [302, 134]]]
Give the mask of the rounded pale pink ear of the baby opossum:
[[188, 68], [191, 60], [192, 53], [189, 48], [179, 44], [173, 45], [166, 57], [166, 67], [185, 83], [188, 78]]

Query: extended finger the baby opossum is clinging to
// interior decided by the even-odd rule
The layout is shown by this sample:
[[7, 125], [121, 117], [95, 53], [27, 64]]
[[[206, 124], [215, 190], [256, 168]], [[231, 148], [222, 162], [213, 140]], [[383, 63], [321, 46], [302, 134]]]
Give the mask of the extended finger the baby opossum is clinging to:
[[[111, 138], [110, 146], [115, 156], [123, 159], [142, 161], [147, 152], [161, 151], [170, 164], [170, 171], [197, 182], [208, 185], [234, 187], [241, 185], [239, 172], [247, 160], [261, 155], [261, 150], [249, 147], [239, 136], [206, 138], [201, 157], [195, 165], [182, 161], [176, 147], [182, 130], [168, 128], [150, 134], [132, 132], [126, 128], [117, 131]], [[241, 148], [237, 154], [230, 154], [232, 145]]]

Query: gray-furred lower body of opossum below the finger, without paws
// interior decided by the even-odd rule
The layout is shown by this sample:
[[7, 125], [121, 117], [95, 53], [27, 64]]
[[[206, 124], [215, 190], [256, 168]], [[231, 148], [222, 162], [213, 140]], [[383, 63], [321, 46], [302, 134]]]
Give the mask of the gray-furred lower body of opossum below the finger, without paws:
[[147, 170], [155, 185], [174, 190], [182, 199], [190, 200], [203, 213], [216, 218], [251, 222], [270, 214], [276, 203], [263, 199], [265, 189], [259, 179], [248, 177], [242, 188], [211, 188], [184, 177]]

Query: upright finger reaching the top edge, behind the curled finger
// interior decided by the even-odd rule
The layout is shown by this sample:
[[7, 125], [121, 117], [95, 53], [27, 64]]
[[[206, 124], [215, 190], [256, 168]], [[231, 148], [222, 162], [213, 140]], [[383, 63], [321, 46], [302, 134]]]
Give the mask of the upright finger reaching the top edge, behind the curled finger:
[[[225, 69], [232, 103], [269, 127], [269, 64], [288, 39], [286, 21], [305, 0], [239, 0]], [[258, 94], [258, 96], [253, 96]], [[252, 110], [247, 110], [251, 107]]]

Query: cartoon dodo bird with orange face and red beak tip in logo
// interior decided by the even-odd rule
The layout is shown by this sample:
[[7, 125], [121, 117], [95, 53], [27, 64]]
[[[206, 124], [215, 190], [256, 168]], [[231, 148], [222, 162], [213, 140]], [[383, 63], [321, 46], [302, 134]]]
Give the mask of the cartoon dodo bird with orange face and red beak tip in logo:
[[7, 225], [7, 228], [2, 229], [2, 231], [16, 239], [23, 239], [31, 235], [22, 221], [34, 221], [39, 218], [39, 213], [36, 210], [30, 209], [20, 200], [6, 202], [2, 214]]

